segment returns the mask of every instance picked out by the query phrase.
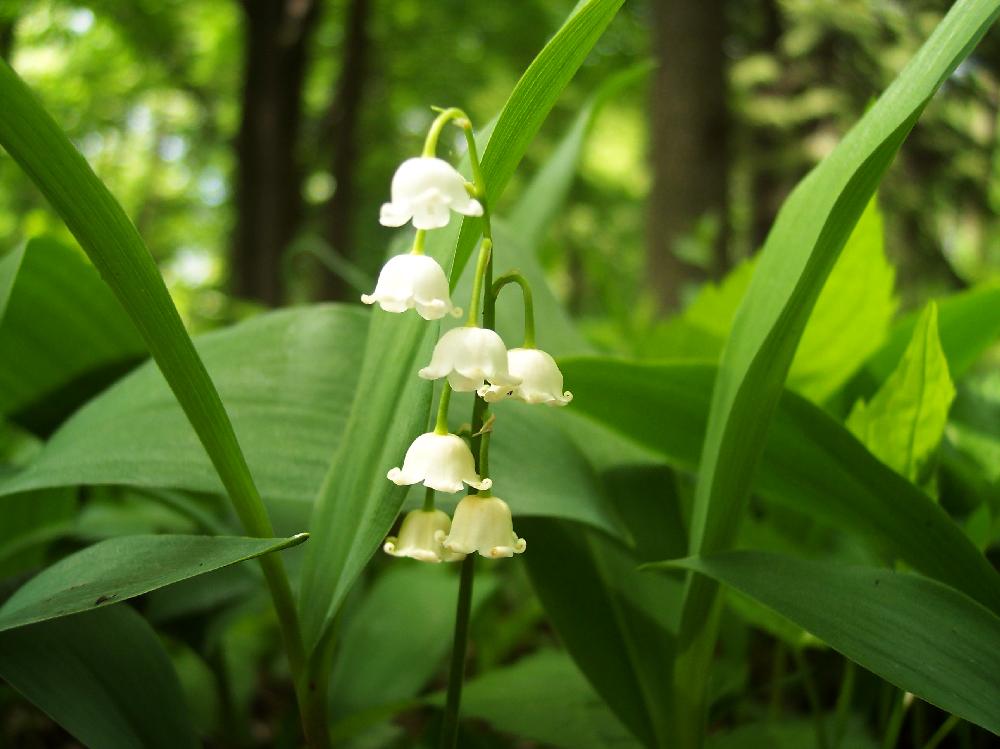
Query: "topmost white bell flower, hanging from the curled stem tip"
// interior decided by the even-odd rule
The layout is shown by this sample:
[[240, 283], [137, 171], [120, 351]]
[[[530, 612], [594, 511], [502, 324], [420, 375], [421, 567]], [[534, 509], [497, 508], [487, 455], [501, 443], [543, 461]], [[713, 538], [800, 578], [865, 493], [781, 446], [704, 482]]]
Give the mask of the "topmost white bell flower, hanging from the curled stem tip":
[[447, 226], [451, 211], [482, 216], [483, 206], [465, 189], [465, 178], [434, 156], [407, 159], [392, 177], [392, 201], [382, 204], [383, 226], [402, 226], [410, 219], [418, 229]]

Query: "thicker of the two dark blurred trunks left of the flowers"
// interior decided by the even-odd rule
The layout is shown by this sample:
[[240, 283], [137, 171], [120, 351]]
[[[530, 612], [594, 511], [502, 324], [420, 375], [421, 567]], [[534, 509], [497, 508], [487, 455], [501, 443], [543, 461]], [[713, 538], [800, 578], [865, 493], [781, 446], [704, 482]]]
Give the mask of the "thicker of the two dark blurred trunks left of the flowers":
[[236, 141], [236, 230], [232, 290], [276, 305], [281, 258], [302, 215], [296, 159], [313, 0], [242, 0], [245, 17], [243, 115]]

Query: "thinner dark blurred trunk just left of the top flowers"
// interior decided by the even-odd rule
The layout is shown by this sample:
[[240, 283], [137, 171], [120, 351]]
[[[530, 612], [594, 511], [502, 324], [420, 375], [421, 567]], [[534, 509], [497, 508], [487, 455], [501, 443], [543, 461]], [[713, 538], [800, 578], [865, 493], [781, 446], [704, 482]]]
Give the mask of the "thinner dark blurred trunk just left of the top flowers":
[[[333, 251], [353, 255], [354, 215], [357, 205], [357, 164], [360, 157], [358, 125], [364, 103], [371, 37], [368, 19], [371, 0], [351, 0], [345, 19], [344, 53], [336, 90], [327, 118], [331, 145], [331, 174], [336, 189], [326, 209], [326, 238]], [[323, 299], [344, 299], [349, 286], [327, 270], [320, 294]]]

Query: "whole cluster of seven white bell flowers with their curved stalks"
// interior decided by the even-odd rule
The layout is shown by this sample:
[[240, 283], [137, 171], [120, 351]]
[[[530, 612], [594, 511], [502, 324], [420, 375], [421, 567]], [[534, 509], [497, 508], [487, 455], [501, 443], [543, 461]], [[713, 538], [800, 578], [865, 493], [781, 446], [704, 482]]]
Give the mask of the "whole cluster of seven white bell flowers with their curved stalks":
[[[475, 183], [467, 182], [457, 169], [435, 155], [438, 137], [449, 122], [465, 133]], [[390, 481], [400, 486], [426, 487], [423, 508], [408, 513], [399, 535], [385, 540], [383, 549], [393, 556], [422, 562], [451, 562], [473, 553], [490, 558], [522, 553], [525, 540], [514, 532], [510, 507], [493, 496], [493, 481], [487, 475], [493, 420], [485, 420], [486, 408], [507, 398], [565, 406], [573, 397], [563, 391], [563, 376], [555, 360], [535, 347], [534, 311], [527, 280], [518, 273], [508, 273], [490, 284], [493, 240], [485, 194], [469, 119], [460, 110], [448, 109], [432, 124], [423, 155], [407, 159], [396, 170], [391, 200], [382, 206], [383, 225], [397, 227], [412, 222], [417, 232], [413, 249], [391, 258], [379, 273], [375, 290], [362, 295], [361, 300], [365, 304], [378, 303], [386, 312], [415, 309], [425, 320], [462, 315], [462, 310], [452, 303], [444, 269], [424, 254], [426, 232], [447, 226], [452, 211], [483, 219], [468, 321], [438, 340], [430, 363], [419, 372], [427, 380], [445, 380], [435, 428], [417, 437], [406, 451], [402, 467], [387, 474]], [[500, 336], [482, 326], [479, 319], [480, 305], [492, 310], [497, 295], [508, 283], [521, 286], [525, 312], [524, 345], [509, 351]], [[449, 431], [448, 405], [452, 391], [474, 393], [474, 397], [482, 398], [473, 411], [471, 445]], [[436, 491], [454, 493], [466, 486], [476, 493], [462, 498], [454, 518], [435, 508]]]

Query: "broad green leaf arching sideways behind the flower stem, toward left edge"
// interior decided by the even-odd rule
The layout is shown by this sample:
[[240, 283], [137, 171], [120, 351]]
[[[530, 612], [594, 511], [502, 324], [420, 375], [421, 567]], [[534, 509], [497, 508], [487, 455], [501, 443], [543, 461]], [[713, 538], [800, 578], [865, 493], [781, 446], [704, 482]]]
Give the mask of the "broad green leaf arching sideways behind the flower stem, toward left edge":
[[[340, 444], [358, 389], [357, 360], [368, 320], [367, 311], [353, 305], [298, 307], [197, 339], [283, 533], [309, 521], [309, 500]], [[425, 363], [415, 364], [414, 370]], [[462, 397], [454, 400], [456, 410], [468, 403]], [[590, 468], [553, 423], [553, 414], [517, 405], [503, 408], [506, 434], [498, 435], [495, 453], [497, 475], [503, 476], [514, 512], [568, 517], [620, 534]], [[372, 491], [395, 486], [385, 474], [399, 465], [407, 446], [392, 453], [386, 449], [377, 461], [373, 457], [372, 475], [365, 477]], [[355, 451], [350, 455], [356, 458]], [[80, 484], [223, 491], [152, 363], [74, 414], [24, 469], [0, 478], [0, 497]], [[379, 535], [371, 550], [381, 541]]]

